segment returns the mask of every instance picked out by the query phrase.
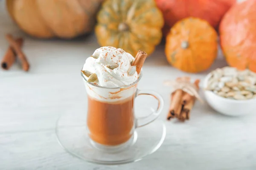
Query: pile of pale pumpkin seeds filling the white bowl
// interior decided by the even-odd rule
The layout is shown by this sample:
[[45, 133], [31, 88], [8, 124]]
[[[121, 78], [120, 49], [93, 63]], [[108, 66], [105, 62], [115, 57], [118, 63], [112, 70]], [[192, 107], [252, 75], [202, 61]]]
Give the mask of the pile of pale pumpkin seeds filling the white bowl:
[[256, 97], [256, 73], [246, 69], [239, 71], [234, 67], [215, 69], [211, 73], [206, 90], [235, 100]]

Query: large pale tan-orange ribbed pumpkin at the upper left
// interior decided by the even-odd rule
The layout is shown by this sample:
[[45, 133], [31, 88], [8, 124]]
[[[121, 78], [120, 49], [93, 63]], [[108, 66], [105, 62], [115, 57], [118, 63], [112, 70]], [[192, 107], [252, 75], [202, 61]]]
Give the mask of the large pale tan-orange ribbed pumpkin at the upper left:
[[72, 38], [93, 30], [102, 0], [6, 0], [12, 19], [38, 38]]

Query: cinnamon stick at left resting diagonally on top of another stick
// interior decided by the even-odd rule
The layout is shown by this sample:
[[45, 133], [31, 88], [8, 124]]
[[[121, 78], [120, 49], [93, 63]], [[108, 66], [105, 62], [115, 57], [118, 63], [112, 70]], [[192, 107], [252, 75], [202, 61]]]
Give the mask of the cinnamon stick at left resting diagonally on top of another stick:
[[20, 49], [20, 46], [18, 46], [18, 44], [16, 43], [16, 41], [14, 40], [12, 35], [10, 35], [10, 34], [6, 35], [6, 40], [8, 40], [10, 46], [12, 46], [12, 49], [17, 54], [17, 57], [20, 59], [21, 64], [22, 64], [22, 69], [24, 71], [28, 71], [29, 70], [29, 62], [26, 59], [26, 55]]

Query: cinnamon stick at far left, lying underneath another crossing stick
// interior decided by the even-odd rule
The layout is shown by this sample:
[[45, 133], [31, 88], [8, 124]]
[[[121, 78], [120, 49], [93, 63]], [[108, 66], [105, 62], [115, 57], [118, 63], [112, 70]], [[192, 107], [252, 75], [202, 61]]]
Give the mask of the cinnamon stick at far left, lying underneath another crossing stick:
[[[17, 38], [15, 41], [18, 46], [20, 47], [22, 46], [23, 44], [22, 38]], [[12, 64], [15, 62], [15, 60], [16, 60], [16, 54], [13, 51], [12, 47], [9, 46], [9, 48], [6, 51], [6, 54], [3, 57], [3, 60], [1, 61], [1, 67], [3, 69], [8, 70], [12, 66]]]

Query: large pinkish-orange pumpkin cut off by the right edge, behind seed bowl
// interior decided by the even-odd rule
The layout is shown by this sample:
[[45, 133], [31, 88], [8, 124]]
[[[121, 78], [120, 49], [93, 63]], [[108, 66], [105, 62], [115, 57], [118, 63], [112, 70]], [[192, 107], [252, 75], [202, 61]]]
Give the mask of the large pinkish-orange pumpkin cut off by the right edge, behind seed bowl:
[[256, 72], [256, 0], [234, 5], [223, 17], [219, 30], [227, 63]]

